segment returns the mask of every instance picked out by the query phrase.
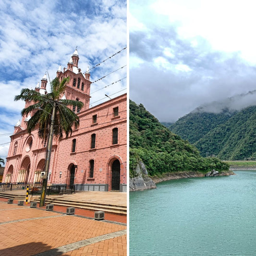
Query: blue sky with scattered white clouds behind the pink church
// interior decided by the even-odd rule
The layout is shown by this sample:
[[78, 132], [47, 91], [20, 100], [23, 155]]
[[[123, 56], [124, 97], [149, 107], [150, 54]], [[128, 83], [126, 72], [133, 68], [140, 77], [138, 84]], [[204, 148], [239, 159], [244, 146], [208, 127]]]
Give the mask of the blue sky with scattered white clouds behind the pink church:
[[[124, 49], [126, 17], [126, 0], [0, 1], [1, 158], [7, 157], [13, 126], [24, 108], [24, 102], [13, 101], [14, 96], [22, 88], [34, 89], [37, 82], [41, 85], [46, 70], [54, 79], [60, 64], [62, 70], [67, 67], [76, 47], [83, 73]], [[90, 70], [93, 82], [119, 69], [91, 85], [92, 106], [109, 100], [105, 94], [114, 98], [127, 92], [126, 56], [124, 49]]]

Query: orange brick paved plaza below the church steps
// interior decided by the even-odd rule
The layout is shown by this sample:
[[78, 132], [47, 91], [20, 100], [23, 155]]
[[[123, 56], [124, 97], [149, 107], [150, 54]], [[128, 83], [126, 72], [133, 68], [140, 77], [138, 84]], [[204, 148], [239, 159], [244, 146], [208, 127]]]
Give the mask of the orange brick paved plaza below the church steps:
[[0, 256], [125, 256], [126, 224], [0, 200]]

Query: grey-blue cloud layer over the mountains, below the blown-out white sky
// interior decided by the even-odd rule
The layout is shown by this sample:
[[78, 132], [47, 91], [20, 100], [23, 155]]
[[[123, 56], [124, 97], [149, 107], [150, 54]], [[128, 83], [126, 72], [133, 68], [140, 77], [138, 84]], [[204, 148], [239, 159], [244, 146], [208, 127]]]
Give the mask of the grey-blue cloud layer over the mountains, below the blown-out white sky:
[[[242, 51], [214, 49], [200, 35], [181, 37], [179, 23], [168, 22], [165, 15], [154, 19], [150, 6], [145, 9], [152, 21], [142, 20], [135, 3], [133, 8], [134, 24], [140, 25], [130, 31], [130, 98], [158, 120], [175, 122], [198, 106], [219, 100], [228, 104], [224, 99], [256, 89], [256, 65]], [[253, 102], [235, 99], [233, 109]]]

